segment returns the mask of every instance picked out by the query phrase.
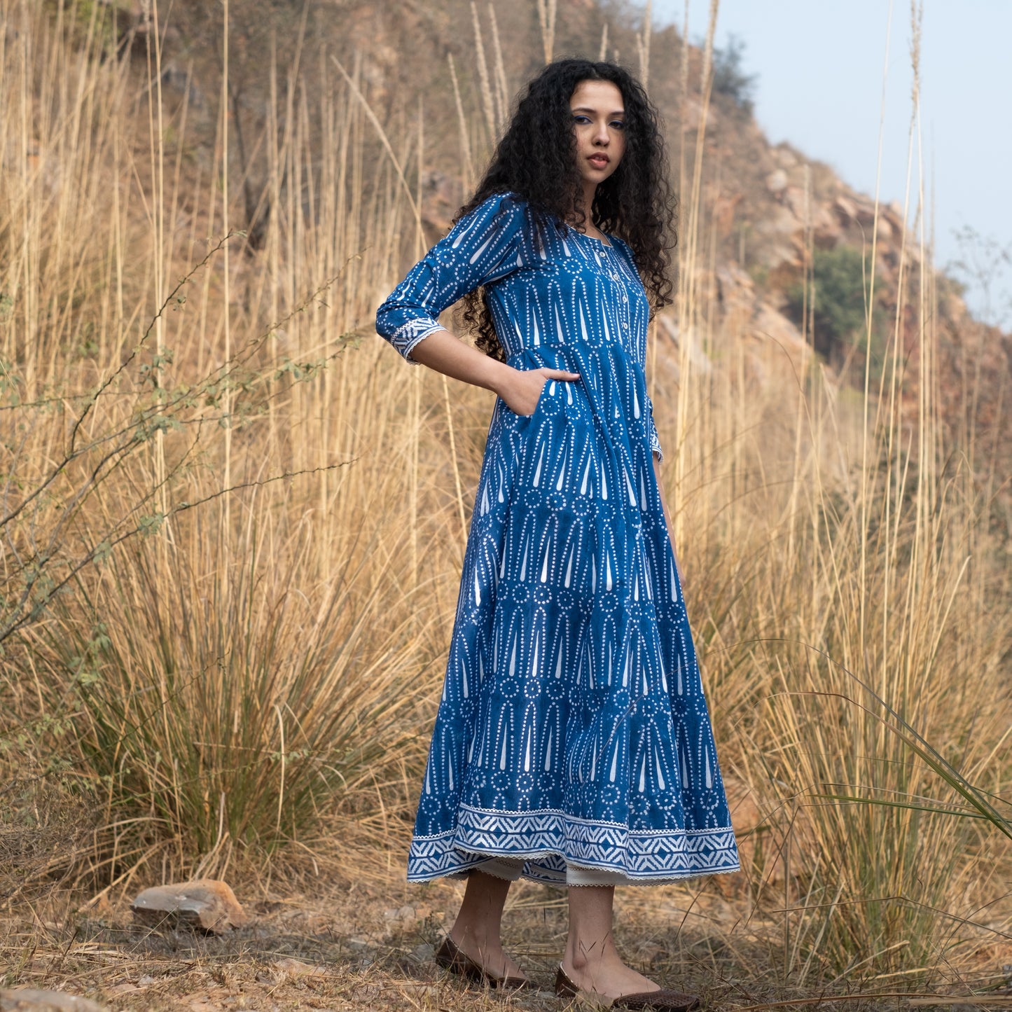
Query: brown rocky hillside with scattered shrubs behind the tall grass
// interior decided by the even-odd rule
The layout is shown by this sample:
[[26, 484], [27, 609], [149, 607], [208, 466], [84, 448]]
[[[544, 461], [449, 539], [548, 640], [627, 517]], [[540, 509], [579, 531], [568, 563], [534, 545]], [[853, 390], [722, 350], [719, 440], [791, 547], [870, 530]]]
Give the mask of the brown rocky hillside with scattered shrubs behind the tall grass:
[[[132, 47], [140, 64], [153, 27], [150, 4], [112, 2], [118, 5], [119, 44]], [[175, 0], [167, 17], [159, 24], [164, 84], [170, 93], [189, 90], [206, 140], [206, 150], [196, 156], [209, 166], [220, 100], [220, 5]], [[945, 377], [936, 394], [947, 406], [952, 430], [964, 435], [972, 429], [1000, 432], [1008, 415], [1012, 340], [971, 318], [956, 283], [930, 267], [922, 271], [919, 242], [904, 226], [904, 208], [896, 203], [878, 207], [875, 230], [870, 197], [789, 145], [769, 144], [752, 116], [743, 86], [747, 79], [738, 73], [733, 53], [715, 55], [707, 104], [701, 52], [686, 49], [673, 27], [648, 40], [641, 21], [635, 8], [616, 0], [559, 0], [549, 32], [552, 52], [596, 59], [603, 51], [640, 71], [649, 41], [649, 89], [667, 123], [676, 173], [680, 165], [688, 167], [684, 180], [705, 109], [695, 287], [705, 304], [701, 312], [708, 333], [744, 329], [799, 353], [814, 349], [840, 382], [860, 385], [866, 356], [872, 376], [880, 375], [884, 350], [898, 328], [912, 403], [922, 345], [935, 340]], [[338, 80], [335, 61], [340, 62], [391, 137], [413, 132], [422, 111], [428, 166], [422, 180], [423, 217], [428, 238], [434, 240], [461, 203], [469, 171], [472, 179], [480, 171], [511, 97], [543, 63], [544, 29], [536, 0], [234, 3], [230, 102], [236, 130], [231, 155], [236, 181], [243, 181], [251, 243], [255, 245], [270, 214], [262, 199], [268, 167], [258, 157], [256, 138], [272, 101], [278, 103], [282, 128], [286, 115], [283, 99], [271, 97], [263, 73], [271, 61], [282, 74], [298, 78], [303, 98], [333, 88]], [[488, 82], [485, 88], [483, 81]], [[455, 91], [469, 124], [466, 144]], [[324, 143], [319, 128], [311, 122], [307, 129], [317, 132], [316, 144]], [[872, 250], [875, 284], [868, 339], [863, 291]], [[919, 313], [922, 299], [928, 310]], [[918, 323], [925, 318], [927, 333]], [[665, 330], [680, 339], [672, 322]], [[967, 404], [973, 405], [968, 414]], [[1003, 462], [1002, 473], [1009, 472], [1008, 463]]]

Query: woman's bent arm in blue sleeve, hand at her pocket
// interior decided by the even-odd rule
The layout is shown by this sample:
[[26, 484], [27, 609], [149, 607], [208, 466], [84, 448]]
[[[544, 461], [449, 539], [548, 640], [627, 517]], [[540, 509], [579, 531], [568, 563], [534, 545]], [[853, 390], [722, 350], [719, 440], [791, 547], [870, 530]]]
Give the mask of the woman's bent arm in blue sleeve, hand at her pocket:
[[491, 390], [518, 415], [537, 407], [547, 380], [579, 380], [560, 369], [516, 369], [483, 354], [439, 325], [439, 314], [482, 284], [523, 265], [523, 205], [502, 194], [465, 215], [408, 272], [376, 311], [376, 332], [409, 362], [421, 362]]

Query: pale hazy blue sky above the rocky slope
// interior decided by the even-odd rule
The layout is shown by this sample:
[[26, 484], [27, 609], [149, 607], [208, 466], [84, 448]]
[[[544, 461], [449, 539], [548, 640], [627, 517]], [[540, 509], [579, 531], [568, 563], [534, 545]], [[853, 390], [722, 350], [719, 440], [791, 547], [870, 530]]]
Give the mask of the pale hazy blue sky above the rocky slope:
[[[892, 9], [892, 16], [891, 16]], [[689, 38], [705, 35], [709, 3], [689, 2]], [[684, 0], [654, 0], [655, 23], [684, 23]], [[911, 116], [910, 0], [721, 0], [716, 45], [745, 44], [757, 75], [755, 111], [774, 144], [789, 141], [873, 194], [884, 80], [879, 192], [904, 200]], [[888, 43], [888, 60], [887, 60]], [[925, 0], [921, 37], [921, 144], [934, 193], [936, 261], [960, 257], [954, 232], [975, 229], [1012, 251], [1012, 0]], [[917, 196], [917, 153], [911, 213]], [[983, 248], [979, 247], [981, 252]], [[984, 254], [986, 262], [993, 255]], [[1012, 325], [1012, 270], [974, 309]]]

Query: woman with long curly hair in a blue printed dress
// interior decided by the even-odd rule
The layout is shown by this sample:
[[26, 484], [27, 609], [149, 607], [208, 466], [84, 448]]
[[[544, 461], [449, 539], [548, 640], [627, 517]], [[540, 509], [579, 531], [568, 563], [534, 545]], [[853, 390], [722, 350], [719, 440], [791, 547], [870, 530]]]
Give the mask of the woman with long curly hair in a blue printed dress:
[[[437, 960], [526, 985], [499, 934], [524, 876], [571, 887], [559, 994], [687, 1009], [611, 938], [614, 886], [739, 866], [644, 374], [671, 302], [666, 171], [626, 71], [549, 65], [376, 330], [498, 395], [408, 865], [468, 879]], [[461, 298], [477, 348], [437, 322]]]

